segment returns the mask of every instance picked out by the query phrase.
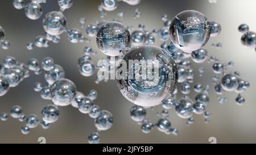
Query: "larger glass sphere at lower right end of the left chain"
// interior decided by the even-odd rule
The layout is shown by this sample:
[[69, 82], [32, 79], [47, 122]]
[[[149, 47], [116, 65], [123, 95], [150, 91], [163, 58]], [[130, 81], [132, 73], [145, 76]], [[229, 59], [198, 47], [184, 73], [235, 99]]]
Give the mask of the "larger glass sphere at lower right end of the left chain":
[[94, 120], [94, 124], [100, 131], [108, 130], [113, 125], [113, 115], [106, 110], [102, 110], [100, 116]]

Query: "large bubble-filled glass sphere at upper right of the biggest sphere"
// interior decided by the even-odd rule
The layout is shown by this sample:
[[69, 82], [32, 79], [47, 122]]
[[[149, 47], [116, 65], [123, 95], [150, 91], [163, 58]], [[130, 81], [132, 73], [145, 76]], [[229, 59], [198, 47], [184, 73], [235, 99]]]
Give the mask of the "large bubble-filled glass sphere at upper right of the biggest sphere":
[[172, 20], [170, 36], [177, 48], [190, 53], [207, 44], [210, 37], [210, 23], [199, 11], [183, 11]]

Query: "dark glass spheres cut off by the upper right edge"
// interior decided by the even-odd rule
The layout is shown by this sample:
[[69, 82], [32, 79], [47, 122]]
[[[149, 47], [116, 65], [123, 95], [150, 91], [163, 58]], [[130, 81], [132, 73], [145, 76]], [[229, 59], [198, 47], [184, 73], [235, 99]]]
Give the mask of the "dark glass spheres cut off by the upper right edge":
[[249, 26], [247, 24], [241, 24], [238, 27], [238, 31], [243, 33], [241, 37], [241, 42], [246, 47], [255, 48], [256, 51], [256, 33], [249, 31]]

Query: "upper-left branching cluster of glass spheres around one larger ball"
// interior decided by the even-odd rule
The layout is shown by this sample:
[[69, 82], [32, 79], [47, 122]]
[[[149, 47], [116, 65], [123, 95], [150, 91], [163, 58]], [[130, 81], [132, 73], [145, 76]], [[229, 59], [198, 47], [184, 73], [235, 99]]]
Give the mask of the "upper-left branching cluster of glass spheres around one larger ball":
[[34, 41], [27, 44], [27, 49], [32, 50], [34, 47], [47, 48], [49, 47], [49, 41], [53, 43], [59, 43], [60, 35], [62, 33], [67, 33], [68, 40], [71, 43], [80, 43], [84, 41], [89, 41], [88, 38], [82, 36], [79, 29], [67, 28], [67, 19], [65, 18], [63, 12], [69, 9], [73, 5], [73, 0], [59, 0], [58, 4], [60, 6], [59, 11], [51, 11], [44, 16], [43, 28], [45, 31], [44, 35], [37, 36]]

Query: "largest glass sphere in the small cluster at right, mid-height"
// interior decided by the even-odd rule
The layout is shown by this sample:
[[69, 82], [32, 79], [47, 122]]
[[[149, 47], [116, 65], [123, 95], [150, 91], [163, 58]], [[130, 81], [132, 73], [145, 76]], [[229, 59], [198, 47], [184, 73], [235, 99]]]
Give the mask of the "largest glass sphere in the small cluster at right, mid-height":
[[221, 79], [221, 86], [226, 91], [235, 91], [238, 87], [238, 78], [232, 74], [226, 74]]

